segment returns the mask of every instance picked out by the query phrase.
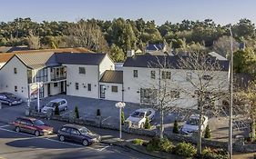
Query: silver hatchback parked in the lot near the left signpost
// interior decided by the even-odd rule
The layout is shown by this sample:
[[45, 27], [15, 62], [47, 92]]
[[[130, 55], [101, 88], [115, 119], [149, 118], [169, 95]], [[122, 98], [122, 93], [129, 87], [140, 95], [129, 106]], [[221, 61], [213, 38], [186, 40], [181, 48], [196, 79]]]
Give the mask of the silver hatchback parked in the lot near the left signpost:
[[67, 100], [66, 99], [61, 99], [57, 98], [55, 100], [50, 101], [46, 106], [42, 108], [43, 113], [47, 113], [49, 111], [54, 112], [56, 105], [58, 105], [59, 111], [66, 111], [67, 110]]

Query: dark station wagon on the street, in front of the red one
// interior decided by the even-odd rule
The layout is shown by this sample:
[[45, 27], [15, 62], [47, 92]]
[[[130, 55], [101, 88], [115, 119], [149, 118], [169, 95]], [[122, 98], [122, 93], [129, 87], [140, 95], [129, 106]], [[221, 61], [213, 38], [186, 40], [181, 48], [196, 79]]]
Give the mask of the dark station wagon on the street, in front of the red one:
[[100, 135], [92, 133], [87, 127], [77, 124], [63, 125], [58, 130], [57, 136], [61, 142], [68, 140], [81, 143], [85, 146], [97, 143], [101, 139]]

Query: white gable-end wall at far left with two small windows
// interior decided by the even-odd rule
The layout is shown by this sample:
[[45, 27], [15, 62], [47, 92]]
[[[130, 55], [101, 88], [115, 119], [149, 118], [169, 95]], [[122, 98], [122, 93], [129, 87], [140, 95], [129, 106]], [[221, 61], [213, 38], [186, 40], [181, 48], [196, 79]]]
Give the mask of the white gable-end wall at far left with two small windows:
[[[14, 73], [14, 68], [17, 69], [17, 74]], [[23, 100], [28, 98], [27, 68], [15, 56], [0, 70], [0, 90], [15, 94]]]

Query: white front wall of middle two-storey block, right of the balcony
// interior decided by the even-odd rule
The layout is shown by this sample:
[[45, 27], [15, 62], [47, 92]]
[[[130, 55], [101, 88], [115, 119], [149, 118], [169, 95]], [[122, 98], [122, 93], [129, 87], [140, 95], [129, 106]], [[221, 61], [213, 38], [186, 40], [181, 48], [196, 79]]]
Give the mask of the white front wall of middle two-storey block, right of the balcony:
[[[66, 65], [67, 66], [67, 95], [98, 98], [98, 66], [97, 65]], [[86, 68], [86, 75], [79, 74], [79, 67]], [[76, 89], [78, 83], [78, 90]], [[91, 84], [91, 91], [87, 90]]]

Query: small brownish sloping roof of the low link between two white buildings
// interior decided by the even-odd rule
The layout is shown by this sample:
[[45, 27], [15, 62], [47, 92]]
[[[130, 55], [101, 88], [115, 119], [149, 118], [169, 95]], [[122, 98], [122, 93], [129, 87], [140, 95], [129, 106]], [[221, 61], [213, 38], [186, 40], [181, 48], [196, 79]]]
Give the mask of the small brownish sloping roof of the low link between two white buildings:
[[104, 72], [99, 82], [123, 84], [123, 71], [107, 70]]

